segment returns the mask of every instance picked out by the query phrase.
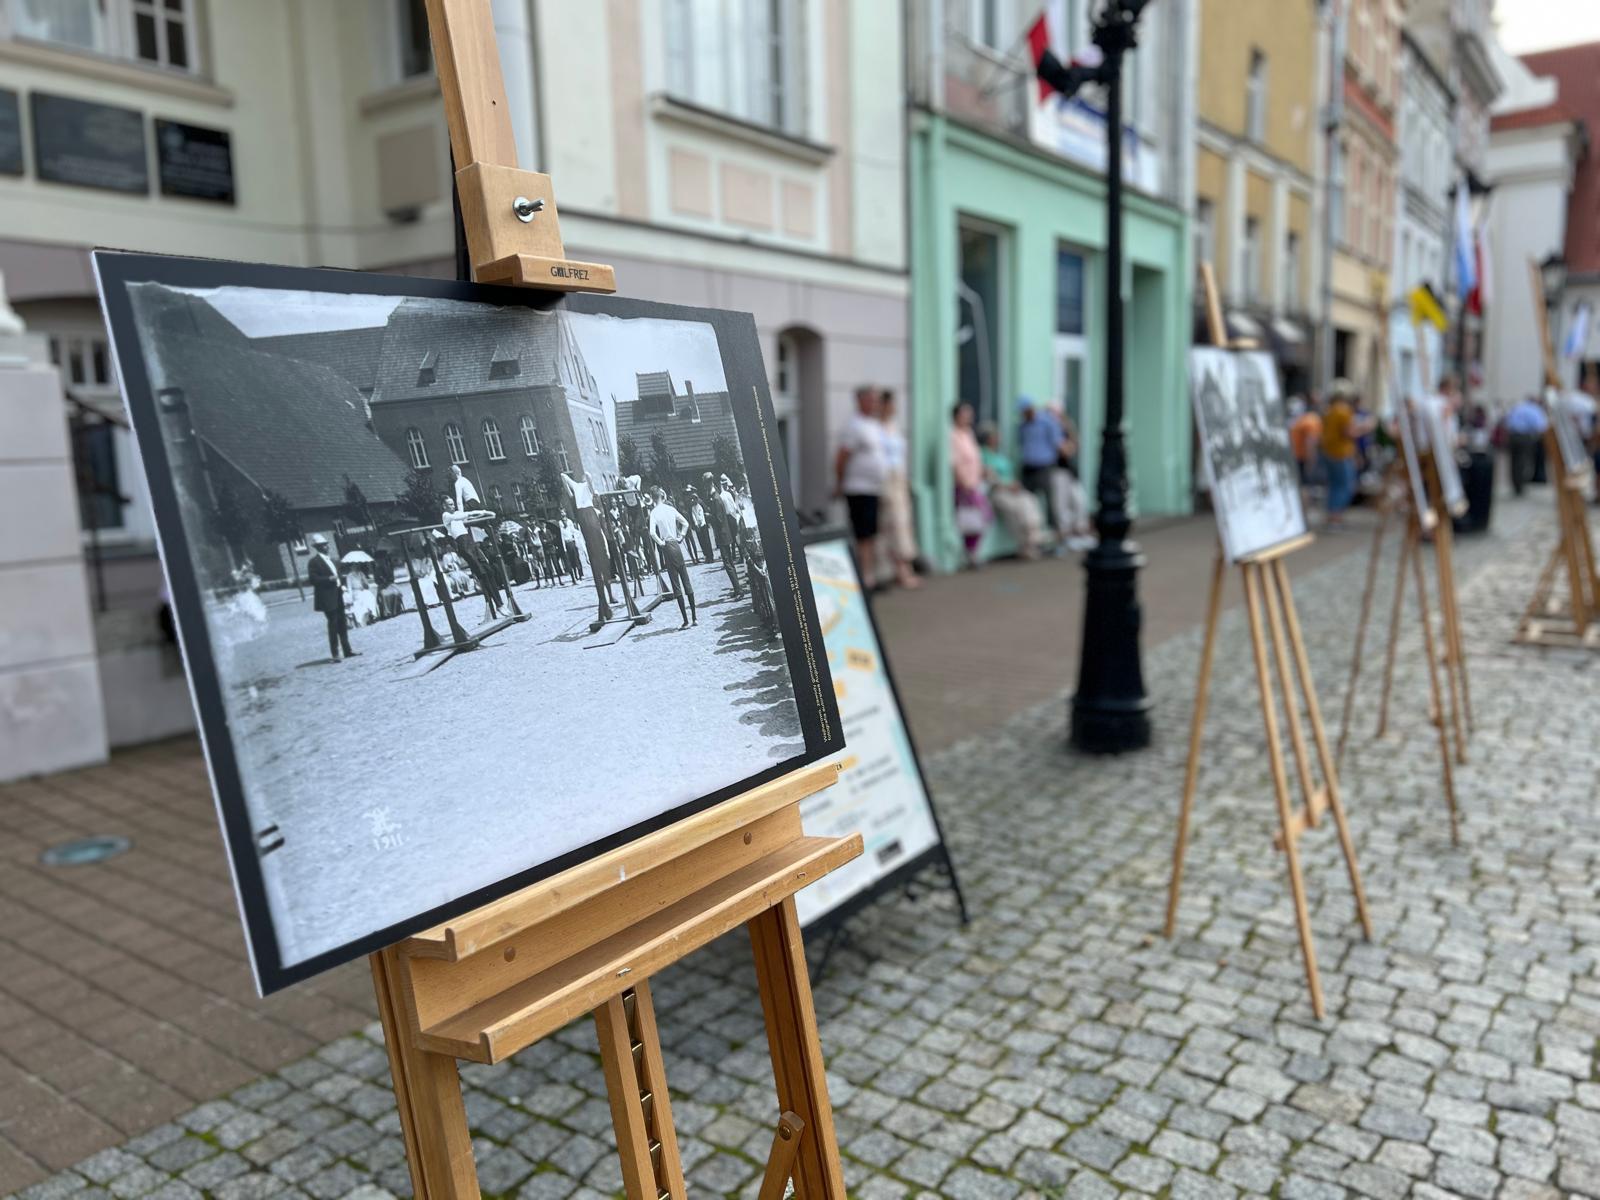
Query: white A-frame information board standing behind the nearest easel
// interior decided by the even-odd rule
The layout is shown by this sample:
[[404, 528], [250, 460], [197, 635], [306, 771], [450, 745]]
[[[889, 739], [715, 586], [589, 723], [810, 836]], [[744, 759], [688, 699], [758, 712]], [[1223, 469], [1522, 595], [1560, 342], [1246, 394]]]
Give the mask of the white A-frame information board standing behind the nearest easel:
[[[850, 539], [837, 531], [816, 533], [805, 555], [845, 750], [834, 758], [843, 763], [838, 782], [803, 800], [800, 816], [811, 837], [859, 832], [866, 842], [861, 858], [795, 894], [802, 923], [811, 925], [846, 915], [933, 861], [949, 867], [949, 854]], [[950, 880], [954, 885], [954, 869]]]

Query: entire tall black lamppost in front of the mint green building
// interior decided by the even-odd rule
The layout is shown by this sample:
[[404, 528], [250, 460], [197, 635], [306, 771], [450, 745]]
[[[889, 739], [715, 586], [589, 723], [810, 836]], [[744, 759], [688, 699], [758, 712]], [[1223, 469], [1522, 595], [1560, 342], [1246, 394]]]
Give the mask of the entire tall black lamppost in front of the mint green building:
[[1062, 96], [1086, 83], [1106, 88], [1106, 418], [1099, 474], [1094, 480], [1094, 531], [1083, 557], [1086, 592], [1078, 691], [1072, 698], [1072, 744], [1091, 754], [1117, 754], [1150, 744], [1150, 699], [1139, 662], [1138, 573], [1144, 565], [1128, 541], [1128, 446], [1122, 432], [1122, 59], [1138, 46], [1139, 13], [1149, 0], [1104, 0], [1094, 18], [1098, 66], [1062, 66], [1048, 50], [1038, 77]]

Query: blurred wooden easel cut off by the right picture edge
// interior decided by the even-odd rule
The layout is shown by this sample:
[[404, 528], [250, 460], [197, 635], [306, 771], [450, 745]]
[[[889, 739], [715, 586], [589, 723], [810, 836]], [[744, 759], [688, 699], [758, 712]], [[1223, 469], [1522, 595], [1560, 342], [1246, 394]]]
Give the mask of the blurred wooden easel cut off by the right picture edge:
[[[1533, 309], [1539, 322], [1539, 349], [1544, 357], [1544, 386], [1560, 389], [1555, 365], [1555, 341], [1544, 307], [1544, 277], [1528, 259], [1533, 282]], [[1557, 413], [1544, 430], [1544, 461], [1555, 491], [1557, 539], [1550, 558], [1539, 571], [1528, 608], [1517, 626], [1515, 642], [1534, 646], [1586, 646], [1600, 650], [1600, 570], [1595, 565], [1594, 538], [1589, 531], [1589, 504], [1584, 493], [1592, 470], [1573, 472], [1566, 466], [1560, 438], [1555, 435]], [[1565, 571], [1566, 594], [1557, 592], [1557, 576]]]

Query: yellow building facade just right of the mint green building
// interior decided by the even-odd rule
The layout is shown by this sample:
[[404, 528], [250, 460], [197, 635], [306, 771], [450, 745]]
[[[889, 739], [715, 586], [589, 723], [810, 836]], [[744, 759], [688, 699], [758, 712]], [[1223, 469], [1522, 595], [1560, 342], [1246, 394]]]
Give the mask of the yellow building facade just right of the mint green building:
[[1195, 259], [1218, 275], [1234, 334], [1309, 386], [1315, 301], [1317, 0], [1202, 0]]

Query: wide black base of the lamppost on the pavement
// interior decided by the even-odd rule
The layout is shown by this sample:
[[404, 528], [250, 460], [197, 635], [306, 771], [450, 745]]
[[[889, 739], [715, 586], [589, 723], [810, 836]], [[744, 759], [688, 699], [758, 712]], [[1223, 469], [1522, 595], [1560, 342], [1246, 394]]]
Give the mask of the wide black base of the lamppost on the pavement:
[[1139, 662], [1141, 566], [1139, 547], [1122, 539], [1102, 538], [1083, 557], [1083, 651], [1070, 731], [1072, 744], [1085, 754], [1122, 754], [1150, 744], [1150, 698]]

